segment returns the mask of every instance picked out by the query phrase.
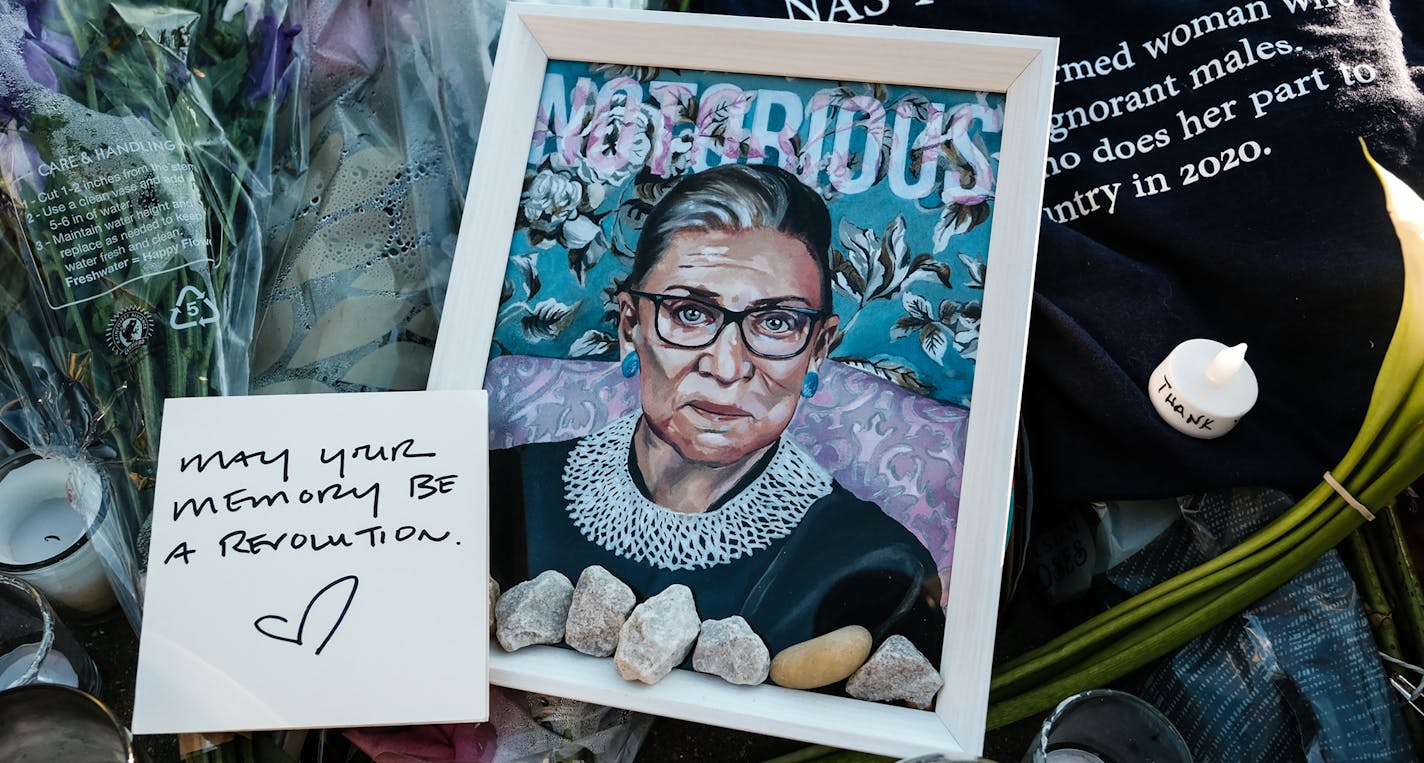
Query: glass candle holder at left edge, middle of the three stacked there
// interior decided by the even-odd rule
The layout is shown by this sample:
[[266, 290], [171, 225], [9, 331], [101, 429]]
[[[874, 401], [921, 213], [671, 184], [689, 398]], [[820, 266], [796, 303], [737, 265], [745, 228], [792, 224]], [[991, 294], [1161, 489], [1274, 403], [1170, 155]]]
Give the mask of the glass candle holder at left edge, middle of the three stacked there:
[[44, 595], [24, 579], [0, 574], [0, 689], [33, 683], [98, 693], [100, 675]]

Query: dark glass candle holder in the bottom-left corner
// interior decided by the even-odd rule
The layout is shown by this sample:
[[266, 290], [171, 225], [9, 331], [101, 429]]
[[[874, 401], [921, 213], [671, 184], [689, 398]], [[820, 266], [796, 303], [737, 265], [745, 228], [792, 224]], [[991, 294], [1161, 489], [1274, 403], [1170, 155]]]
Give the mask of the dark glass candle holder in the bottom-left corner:
[[93, 696], [53, 683], [0, 692], [0, 760], [147, 763], [128, 729]]

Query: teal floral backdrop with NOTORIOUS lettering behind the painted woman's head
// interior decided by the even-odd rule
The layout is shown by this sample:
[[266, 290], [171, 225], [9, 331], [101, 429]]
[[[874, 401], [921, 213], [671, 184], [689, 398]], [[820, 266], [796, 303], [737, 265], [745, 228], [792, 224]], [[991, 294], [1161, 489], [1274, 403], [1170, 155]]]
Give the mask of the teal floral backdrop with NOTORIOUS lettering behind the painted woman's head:
[[832, 214], [832, 359], [968, 406], [1002, 95], [551, 61], [493, 354], [617, 360], [614, 283], [652, 205], [780, 164]]

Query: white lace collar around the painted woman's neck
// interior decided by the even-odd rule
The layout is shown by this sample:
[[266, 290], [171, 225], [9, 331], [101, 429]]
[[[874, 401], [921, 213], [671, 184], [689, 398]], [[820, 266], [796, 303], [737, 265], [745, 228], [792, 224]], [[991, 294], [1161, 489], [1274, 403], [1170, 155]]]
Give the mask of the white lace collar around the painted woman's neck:
[[766, 548], [830, 494], [830, 474], [782, 438], [745, 490], [715, 511], [684, 514], [649, 501], [628, 473], [641, 411], [580, 440], [564, 463], [564, 498], [580, 532], [601, 548], [662, 569], [701, 569]]

